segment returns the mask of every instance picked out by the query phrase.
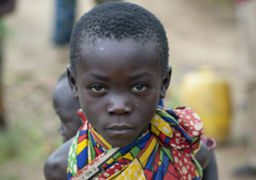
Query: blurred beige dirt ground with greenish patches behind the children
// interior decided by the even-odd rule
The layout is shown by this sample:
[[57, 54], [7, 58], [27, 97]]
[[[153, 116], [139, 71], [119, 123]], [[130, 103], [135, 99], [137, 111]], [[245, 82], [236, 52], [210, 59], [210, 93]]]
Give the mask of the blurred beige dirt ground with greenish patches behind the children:
[[[236, 110], [240, 102], [235, 83], [238, 40], [232, 7], [203, 0], [127, 2], [145, 7], [164, 25], [169, 41], [169, 64], [174, 69], [170, 88], [177, 86], [187, 71], [211, 65], [227, 78], [232, 108]], [[93, 6], [92, 0], [79, 0], [77, 17]], [[4, 17], [8, 34], [3, 81], [9, 129], [6, 138], [10, 138], [10, 143], [4, 145], [10, 147], [7, 152], [11, 155], [0, 163], [1, 179], [44, 179], [43, 163], [61, 144], [51, 93], [69, 64], [69, 50], [67, 46], [52, 44], [53, 15], [54, 1], [23, 0], [17, 1], [15, 11]], [[246, 161], [242, 122], [235, 113], [230, 121], [227, 142], [215, 148], [221, 180], [240, 179], [232, 176], [231, 171]]]

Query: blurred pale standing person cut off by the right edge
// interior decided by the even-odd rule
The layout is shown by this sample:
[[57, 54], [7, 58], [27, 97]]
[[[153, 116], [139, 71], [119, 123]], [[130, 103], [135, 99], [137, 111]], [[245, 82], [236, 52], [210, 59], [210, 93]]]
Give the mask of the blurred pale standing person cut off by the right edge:
[[256, 0], [237, 0], [236, 23], [239, 32], [239, 76], [245, 101], [244, 130], [247, 133], [247, 164], [234, 175], [256, 176]]

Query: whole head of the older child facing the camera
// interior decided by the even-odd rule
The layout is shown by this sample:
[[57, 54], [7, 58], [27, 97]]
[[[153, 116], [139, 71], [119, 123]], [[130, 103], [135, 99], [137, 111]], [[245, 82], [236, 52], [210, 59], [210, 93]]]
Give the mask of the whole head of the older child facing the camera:
[[[171, 74], [168, 44], [162, 25], [147, 10], [129, 3], [101, 6], [74, 28], [69, 82], [89, 123], [109, 144], [124, 147], [149, 128], [165, 97]], [[101, 17], [94, 28], [87, 25], [94, 22], [85, 20], [88, 16]], [[132, 21], [135, 17], [143, 21]], [[125, 27], [130, 29], [123, 33]]]

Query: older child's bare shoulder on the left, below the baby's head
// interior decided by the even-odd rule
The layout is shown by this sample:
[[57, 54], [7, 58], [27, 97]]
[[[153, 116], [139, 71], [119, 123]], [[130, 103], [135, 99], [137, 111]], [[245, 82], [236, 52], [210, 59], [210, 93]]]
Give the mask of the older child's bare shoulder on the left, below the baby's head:
[[45, 161], [44, 176], [47, 180], [67, 179], [67, 163], [74, 137], [62, 144]]

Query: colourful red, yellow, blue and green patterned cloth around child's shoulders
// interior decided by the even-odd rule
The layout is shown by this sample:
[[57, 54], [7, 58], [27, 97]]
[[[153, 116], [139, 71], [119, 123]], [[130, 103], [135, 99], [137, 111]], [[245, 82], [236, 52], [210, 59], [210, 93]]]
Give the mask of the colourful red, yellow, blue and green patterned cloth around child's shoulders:
[[[70, 148], [68, 179], [114, 148], [91, 126], [81, 110], [79, 114], [85, 123]], [[150, 129], [129, 146], [118, 148], [92, 179], [201, 179], [202, 167], [195, 155], [202, 134], [203, 124], [192, 109], [165, 110], [158, 106]]]

